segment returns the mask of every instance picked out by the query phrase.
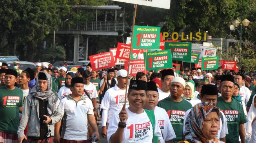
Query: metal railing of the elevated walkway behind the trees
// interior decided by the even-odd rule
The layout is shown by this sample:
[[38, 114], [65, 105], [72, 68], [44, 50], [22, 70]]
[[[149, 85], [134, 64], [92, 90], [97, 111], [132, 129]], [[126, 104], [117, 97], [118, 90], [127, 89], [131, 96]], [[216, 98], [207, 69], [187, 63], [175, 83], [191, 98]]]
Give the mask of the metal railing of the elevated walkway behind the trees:
[[[128, 28], [128, 24], [125, 23]], [[123, 22], [117, 21], [88, 21], [78, 25], [62, 25], [58, 30], [84, 30], [84, 31], [123, 31]]]

